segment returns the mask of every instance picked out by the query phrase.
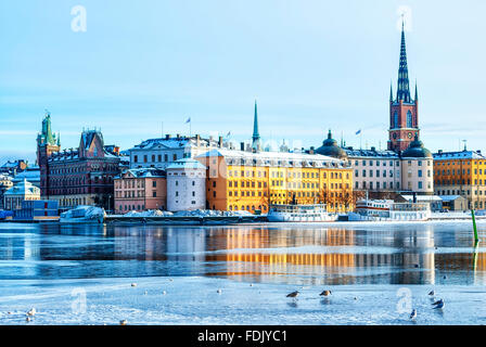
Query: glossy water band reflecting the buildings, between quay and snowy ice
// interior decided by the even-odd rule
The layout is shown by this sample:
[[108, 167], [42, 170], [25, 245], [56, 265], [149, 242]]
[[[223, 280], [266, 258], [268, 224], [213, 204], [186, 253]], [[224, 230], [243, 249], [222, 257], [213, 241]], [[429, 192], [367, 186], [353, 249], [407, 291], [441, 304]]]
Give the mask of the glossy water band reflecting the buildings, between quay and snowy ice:
[[[0, 224], [0, 279], [218, 275], [300, 284], [484, 284], [466, 224]], [[447, 273], [445, 280], [443, 275]]]

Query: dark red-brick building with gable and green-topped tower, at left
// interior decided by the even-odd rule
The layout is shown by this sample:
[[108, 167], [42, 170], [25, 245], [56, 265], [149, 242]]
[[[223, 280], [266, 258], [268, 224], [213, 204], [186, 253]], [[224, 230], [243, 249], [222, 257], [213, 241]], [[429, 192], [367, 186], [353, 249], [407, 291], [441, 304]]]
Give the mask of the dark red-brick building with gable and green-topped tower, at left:
[[37, 138], [37, 156], [42, 200], [57, 201], [64, 209], [78, 205], [113, 208], [113, 178], [119, 174], [119, 151], [104, 145], [100, 130], [84, 130], [79, 147], [61, 151], [48, 114]]

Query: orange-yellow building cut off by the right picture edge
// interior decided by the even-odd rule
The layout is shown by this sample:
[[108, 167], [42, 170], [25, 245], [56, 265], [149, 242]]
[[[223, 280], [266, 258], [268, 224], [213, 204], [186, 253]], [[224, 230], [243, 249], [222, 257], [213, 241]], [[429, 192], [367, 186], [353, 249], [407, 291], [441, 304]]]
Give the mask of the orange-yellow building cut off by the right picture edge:
[[486, 156], [481, 151], [434, 153], [434, 190], [449, 200], [460, 195], [465, 209], [486, 208]]

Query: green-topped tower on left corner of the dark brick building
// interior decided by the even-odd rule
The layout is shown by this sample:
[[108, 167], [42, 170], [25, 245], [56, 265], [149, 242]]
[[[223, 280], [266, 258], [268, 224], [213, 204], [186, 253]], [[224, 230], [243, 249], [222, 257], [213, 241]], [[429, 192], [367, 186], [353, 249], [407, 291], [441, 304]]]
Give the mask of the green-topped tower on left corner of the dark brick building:
[[49, 198], [49, 157], [61, 151], [61, 138], [52, 133], [51, 114], [47, 111], [42, 120], [42, 130], [37, 136], [37, 165], [40, 169], [40, 195]]

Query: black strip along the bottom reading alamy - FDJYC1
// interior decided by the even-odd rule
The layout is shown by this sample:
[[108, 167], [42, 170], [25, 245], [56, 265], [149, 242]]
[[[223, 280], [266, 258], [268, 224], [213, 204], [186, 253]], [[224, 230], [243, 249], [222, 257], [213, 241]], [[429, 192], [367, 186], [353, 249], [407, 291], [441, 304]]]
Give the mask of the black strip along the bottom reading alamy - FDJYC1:
[[[0, 326], [3, 338], [22, 338], [23, 344], [31, 340], [49, 340], [63, 346], [80, 346], [101, 343], [114, 346], [304, 346], [309, 342], [329, 344], [353, 342], [381, 345], [391, 343], [399, 336], [419, 338], [435, 344], [447, 336], [461, 336], [463, 333], [482, 333], [482, 325], [170, 325], [170, 326], [64, 326], [30, 325]], [[395, 336], [395, 337], [393, 337]]]

